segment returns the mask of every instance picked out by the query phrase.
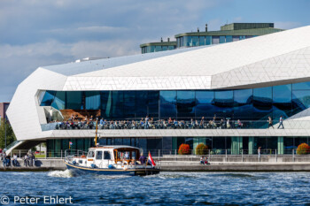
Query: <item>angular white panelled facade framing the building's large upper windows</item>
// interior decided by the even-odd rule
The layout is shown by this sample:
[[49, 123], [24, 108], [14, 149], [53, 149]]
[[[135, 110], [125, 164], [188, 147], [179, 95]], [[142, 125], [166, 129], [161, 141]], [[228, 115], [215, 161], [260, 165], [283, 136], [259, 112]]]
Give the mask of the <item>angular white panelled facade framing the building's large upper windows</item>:
[[[216, 46], [39, 67], [19, 84], [7, 116], [18, 140], [85, 138], [94, 131], [43, 132], [41, 91], [240, 89], [309, 81], [309, 34], [310, 27], [299, 27]], [[286, 121], [284, 130], [107, 130], [101, 136], [310, 136], [308, 110]]]

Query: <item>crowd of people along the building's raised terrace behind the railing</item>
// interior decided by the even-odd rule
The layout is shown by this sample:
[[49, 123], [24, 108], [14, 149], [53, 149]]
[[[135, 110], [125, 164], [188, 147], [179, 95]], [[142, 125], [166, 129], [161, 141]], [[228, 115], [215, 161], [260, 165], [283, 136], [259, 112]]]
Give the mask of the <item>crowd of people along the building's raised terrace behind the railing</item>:
[[[97, 121], [98, 120], [98, 121]], [[272, 118], [268, 117], [268, 128], [273, 126]], [[283, 117], [280, 118], [279, 127], [283, 127]], [[205, 117], [190, 120], [176, 120], [175, 118], [159, 119], [141, 118], [140, 120], [107, 120], [105, 118], [94, 118], [86, 116], [79, 118], [72, 115], [66, 121], [57, 121], [56, 129], [241, 129], [248, 128], [247, 121], [230, 120], [230, 118], [213, 118], [206, 120]], [[278, 127], [278, 128], [279, 128]]]

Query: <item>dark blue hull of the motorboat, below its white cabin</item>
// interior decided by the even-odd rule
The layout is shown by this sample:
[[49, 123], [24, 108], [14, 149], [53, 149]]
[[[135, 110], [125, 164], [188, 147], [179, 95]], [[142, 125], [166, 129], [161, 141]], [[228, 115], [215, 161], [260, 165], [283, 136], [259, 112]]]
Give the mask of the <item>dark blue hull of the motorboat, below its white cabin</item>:
[[145, 175], [152, 175], [152, 174], [158, 174], [159, 169], [100, 169], [100, 168], [89, 168], [89, 167], [83, 167], [79, 165], [74, 165], [65, 162], [66, 168], [68, 170], [72, 170], [77, 173], [94, 173], [98, 175], [128, 175], [128, 176], [145, 176]]

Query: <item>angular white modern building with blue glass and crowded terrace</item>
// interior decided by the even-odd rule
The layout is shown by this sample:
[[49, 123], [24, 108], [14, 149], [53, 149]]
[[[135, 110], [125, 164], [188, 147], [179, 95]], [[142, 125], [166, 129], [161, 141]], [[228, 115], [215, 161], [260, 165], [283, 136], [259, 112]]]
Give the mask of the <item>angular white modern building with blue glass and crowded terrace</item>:
[[[7, 116], [23, 149], [94, 145], [290, 153], [310, 136], [310, 27], [216, 45], [39, 67]], [[280, 126], [280, 118], [283, 119]]]

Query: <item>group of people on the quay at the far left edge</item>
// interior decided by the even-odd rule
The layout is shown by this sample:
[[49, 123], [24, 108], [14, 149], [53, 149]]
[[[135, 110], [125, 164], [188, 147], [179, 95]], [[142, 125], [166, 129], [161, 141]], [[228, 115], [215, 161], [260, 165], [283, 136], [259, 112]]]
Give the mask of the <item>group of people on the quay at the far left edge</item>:
[[[13, 156], [6, 155], [5, 151], [0, 149], [0, 159], [3, 162], [4, 167], [17, 167], [20, 166], [18, 156], [16, 153]], [[24, 157], [24, 166], [35, 166], [35, 153], [28, 152]]]

